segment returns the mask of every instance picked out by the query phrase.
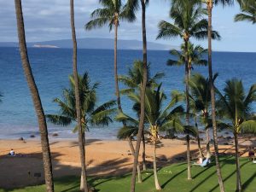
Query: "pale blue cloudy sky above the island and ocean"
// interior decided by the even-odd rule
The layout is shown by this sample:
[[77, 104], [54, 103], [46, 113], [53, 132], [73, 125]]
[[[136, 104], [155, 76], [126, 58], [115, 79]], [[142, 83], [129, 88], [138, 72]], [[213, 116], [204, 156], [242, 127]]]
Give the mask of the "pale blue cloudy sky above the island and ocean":
[[[17, 42], [15, 1], [0, 0], [0, 42]], [[85, 31], [84, 24], [90, 20], [90, 13], [101, 8], [97, 0], [75, 0], [75, 25], [77, 38], [113, 38], [108, 27]], [[70, 8], [68, 0], [23, 0], [23, 16], [26, 27], [26, 41], [46, 41], [71, 38]], [[182, 39], [156, 40], [160, 20], [172, 22], [169, 18], [170, 1], [151, 0], [147, 8], [148, 41], [160, 44], [179, 46]], [[248, 22], [234, 22], [239, 13], [237, 4], [231, 7], [217, 6], [212, 12], [212, 26], [222, 39], [212, 43], [212, 49], [221, 51], [256, 52], [256, 25]], [[141, 13], [137, 12], [134, 23], [121, 22], [119, 39], [142, 39]], [[207, 47], [207, 41], [195, 41]]]

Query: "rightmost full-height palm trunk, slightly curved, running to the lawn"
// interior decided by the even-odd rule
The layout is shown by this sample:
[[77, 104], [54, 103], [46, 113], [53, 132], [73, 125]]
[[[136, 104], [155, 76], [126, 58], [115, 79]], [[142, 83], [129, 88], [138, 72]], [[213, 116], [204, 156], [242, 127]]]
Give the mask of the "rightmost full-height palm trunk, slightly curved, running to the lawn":
[[207, 12], [208, 12], [208, 71], [209, 71], [209, 83], [211, 89], [211, 102], [212, 102], [212, 130], [213, 130], [213, 142], [215, 151], [216, 170], [218, 176], [218, 185], [220, 192], [224, 192], [224, 183], [222, 174], [219, 166], [218, 156], [218, 137], [217, 137], [217, 125], [216, 125], [216, 112], [215, 112], [215, 92], [212, 80], [212, 0], [207, 1]]

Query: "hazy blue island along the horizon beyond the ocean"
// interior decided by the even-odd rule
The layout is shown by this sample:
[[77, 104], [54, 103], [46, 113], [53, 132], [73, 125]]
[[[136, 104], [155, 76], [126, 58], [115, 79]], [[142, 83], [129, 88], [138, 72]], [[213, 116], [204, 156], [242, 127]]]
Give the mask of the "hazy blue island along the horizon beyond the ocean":
[[[27, 47], [36, 48], [73, 48], [71, 39], [51, 40], [44, 42], [27, 42]], [[16, 42], [0, 42], [0, 47], [18, 47]], [[112, 38], [79, 38], [79, 49], [113, 49]], [[143, 49], [143, 43], [138, 40], [122, 40], [118, 41], [118, 49]], [[169, 50], [178, 49], [177, 46], [167, 44], [157, 44], [148, 42], [148, 49], [152, 50]]]

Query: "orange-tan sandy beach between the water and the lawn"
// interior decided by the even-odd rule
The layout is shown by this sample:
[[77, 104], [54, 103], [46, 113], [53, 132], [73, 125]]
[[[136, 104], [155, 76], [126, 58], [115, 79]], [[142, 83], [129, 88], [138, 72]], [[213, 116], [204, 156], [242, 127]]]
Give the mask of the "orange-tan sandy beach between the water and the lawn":
[[[255, 139], [253, 140], [255, 142]], [[223, 141], [224, 142], [224, 141]], [[252, 142], [241, 140], [241, 155], [247, 155], [247, 145]], [[202, 144], [202, 148], [205, 149]], [[15, 149], [15, 157], [9, 157], [10, 148]], [[197, 144], [191, 142], [192, 158], [198, 154]], [[234, 152], [230, 145], [220, 145], [220, 153]], [[79, 146], [76, 140], [55, 139], [50, 141], [54, 176], [79, 175]], [[182, 140], [162, 139], [157, 148], [159, 166], [164, 166], [186, 158], [186, 145]], [[153, 146], [146, 144], [146, 160], [151, 166]], [[86, 143], [86, 164], [93, 176], [114, 176], [131, 172], [131, 151], [126, 141], [106, 141], [90, 139]], [[41, 176], [40, 176], [41, 175]], [[40, 142], [37, 140], [0, 140], [0, 187], [21, 187], [44, 182], [43, 161]]]

